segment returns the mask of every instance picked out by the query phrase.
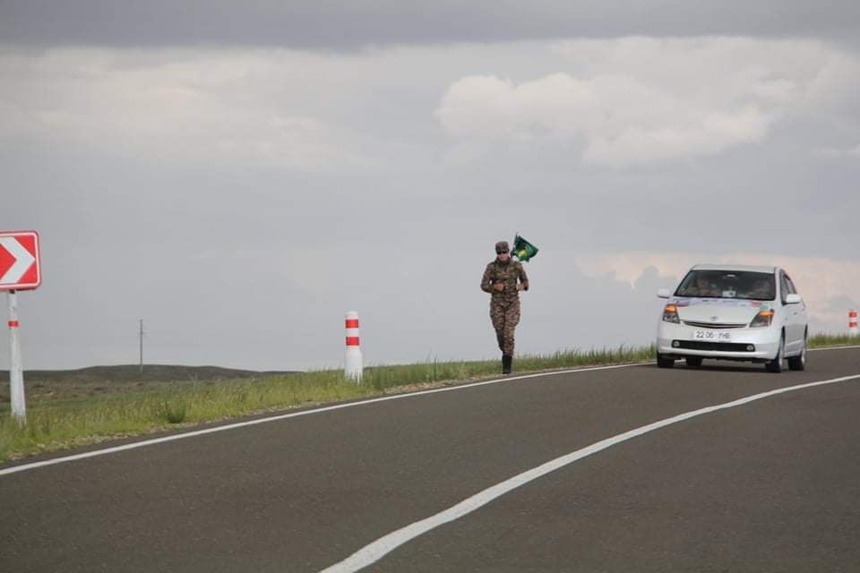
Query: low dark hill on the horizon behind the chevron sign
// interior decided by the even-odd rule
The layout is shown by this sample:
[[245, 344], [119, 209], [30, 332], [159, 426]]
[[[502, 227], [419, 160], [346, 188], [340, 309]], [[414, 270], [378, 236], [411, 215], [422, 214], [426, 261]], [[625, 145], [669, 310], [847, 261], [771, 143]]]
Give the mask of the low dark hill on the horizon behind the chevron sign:
[[[236, 378], [256, 378], [296, 374], [297, 371], [237, 370], [219, 366], [175, 366], [167, 364], [120, 364], [116, 366], [90, 366], [79, 370], [25, 370], [24, 381], [30, 382], [169, 382], [169, 381], [212, 381]], [[0, 371], [0, 381], [9, 380], [9, 371]]]

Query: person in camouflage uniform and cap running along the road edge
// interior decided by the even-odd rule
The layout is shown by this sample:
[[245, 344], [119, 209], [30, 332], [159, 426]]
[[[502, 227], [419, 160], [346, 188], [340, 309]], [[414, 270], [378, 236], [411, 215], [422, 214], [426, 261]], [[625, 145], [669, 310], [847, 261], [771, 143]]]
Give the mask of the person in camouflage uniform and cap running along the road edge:
[[513, 330], [520, 322], [520, 290], [529, 290], [529, 278], [520, 261], [512, 261], [507, 242], [495, 244], [495, 261], [486, 265], [481, 290], [490, 293], [490, 320], [502, 351], [502, 373], [513, 364]]

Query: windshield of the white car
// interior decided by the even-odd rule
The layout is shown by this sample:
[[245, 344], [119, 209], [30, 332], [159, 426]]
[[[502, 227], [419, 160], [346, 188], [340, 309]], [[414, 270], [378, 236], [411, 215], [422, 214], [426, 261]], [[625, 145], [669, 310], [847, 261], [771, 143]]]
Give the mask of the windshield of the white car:
[[775, 276], [770, 272], [691, 270], [675, 296], [772, 301], [777, 297], [776, 287]]

